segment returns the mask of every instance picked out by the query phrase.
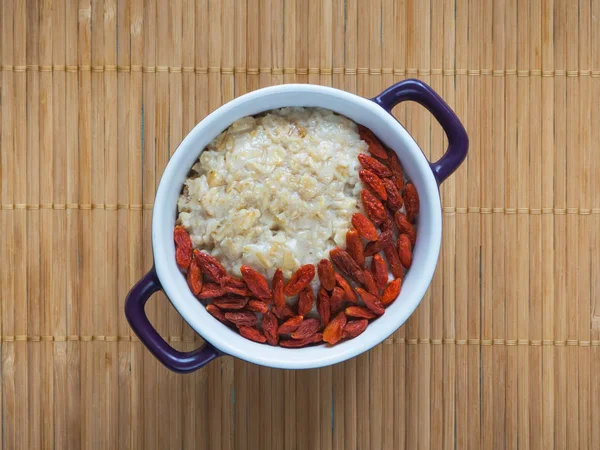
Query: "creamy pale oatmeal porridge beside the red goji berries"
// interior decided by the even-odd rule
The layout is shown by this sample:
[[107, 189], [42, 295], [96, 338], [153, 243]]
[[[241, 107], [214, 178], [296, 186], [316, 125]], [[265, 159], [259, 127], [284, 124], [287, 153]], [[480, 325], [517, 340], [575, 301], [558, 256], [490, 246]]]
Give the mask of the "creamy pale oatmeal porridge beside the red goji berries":
[[351, 120], [321, 108], [244, 117], [201, 153], [179, 198], [178, 222], [194, 247], [239, 275], [249, 265], [285, 277], [345, 247], [360, 208], [359, 153]]

